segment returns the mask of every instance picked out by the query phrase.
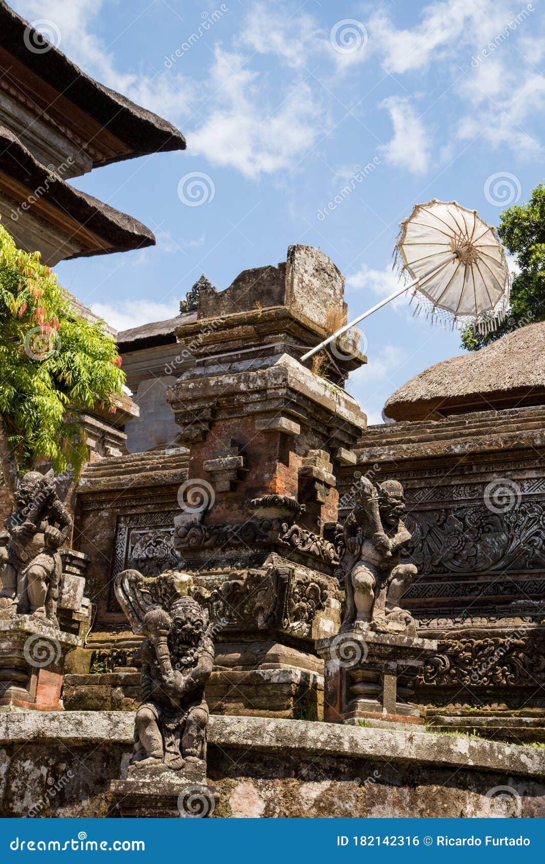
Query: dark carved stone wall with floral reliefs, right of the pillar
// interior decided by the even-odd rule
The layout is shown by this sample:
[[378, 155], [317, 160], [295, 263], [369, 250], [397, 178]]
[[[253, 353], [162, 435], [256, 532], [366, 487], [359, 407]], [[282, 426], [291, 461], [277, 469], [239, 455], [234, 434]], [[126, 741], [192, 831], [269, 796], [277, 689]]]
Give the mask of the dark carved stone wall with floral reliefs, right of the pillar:
[[545, 708], [545, 410], [370, 427], [342, 472], [341, 516], [363, 475], [401, 480], [410, 560], [403, 600], [438, 654], [428, 705]]

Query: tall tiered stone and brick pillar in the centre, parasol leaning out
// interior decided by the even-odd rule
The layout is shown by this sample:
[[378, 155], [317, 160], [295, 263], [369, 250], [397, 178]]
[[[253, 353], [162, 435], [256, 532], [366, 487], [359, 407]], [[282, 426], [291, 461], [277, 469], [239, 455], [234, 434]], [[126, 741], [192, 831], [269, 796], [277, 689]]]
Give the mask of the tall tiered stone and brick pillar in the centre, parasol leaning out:
[[339, 326], [343, 292], [323, 252], [292, 246], [276, 268], [201, 289], [197, 320], [177, 330], [195, 364], [168, 391], [189, 449], [174, 545], [218, 622], [209, 699], [224, 713], [321, 713], [314, 642], [337, 632], [342, 601], [324, 526], [365, 429], [343, 388], [365, 358], [330, 355], [320, 374], [300, 358]]

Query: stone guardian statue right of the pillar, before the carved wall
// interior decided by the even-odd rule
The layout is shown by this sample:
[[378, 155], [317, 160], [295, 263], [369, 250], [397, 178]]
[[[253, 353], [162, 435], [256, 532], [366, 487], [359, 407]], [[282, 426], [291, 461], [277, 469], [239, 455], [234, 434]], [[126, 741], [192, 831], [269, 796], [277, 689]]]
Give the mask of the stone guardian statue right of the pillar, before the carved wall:
[[415, 620], [398, 603], [414, 580], [414, 564], [400, 563], [411, 535], [402, 521], [403, 487], [396, 480], [374, 485], [363, 478], [346, 518], [341, 567], [346, 614], [341, 632], [361, 629], [415, 635]]

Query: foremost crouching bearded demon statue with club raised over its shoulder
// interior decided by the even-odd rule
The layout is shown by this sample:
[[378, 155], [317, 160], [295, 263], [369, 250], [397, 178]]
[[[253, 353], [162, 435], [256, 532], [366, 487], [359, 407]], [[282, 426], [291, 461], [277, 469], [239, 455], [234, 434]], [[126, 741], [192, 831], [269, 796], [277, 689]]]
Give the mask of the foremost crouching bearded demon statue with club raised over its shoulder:
[[115, 587], [132, 629], [145, 637], [132, 764], [204, 777], [204, 691], [214, 656], [208, 613], [177, 592], [176, 574], [145, 577], [124, 570]]

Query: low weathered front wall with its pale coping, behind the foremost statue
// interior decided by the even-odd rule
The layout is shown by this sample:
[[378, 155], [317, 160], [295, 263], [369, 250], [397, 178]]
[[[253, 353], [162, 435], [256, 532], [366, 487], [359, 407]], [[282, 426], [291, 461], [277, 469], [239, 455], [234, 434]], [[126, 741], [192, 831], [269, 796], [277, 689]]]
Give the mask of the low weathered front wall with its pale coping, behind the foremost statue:
[[[0, 816], [111, 818], [116, 801], [129, 810], [136, 788], [119, 777], [133, 732], [128, 711], [0, 715]], [[495, 808], [506, 804], [511, 816], [545, 816], [540, 747], [259, 717], [212, 716], [207, 732], [213, 819], [472, 818], [505, 816]], [[57, 794], [50, 778], [65, 780]], [[141, 791], [136, 803], [152, 810], [151, 787]], [[179, 817], [179, 789], [163, 791]]]

